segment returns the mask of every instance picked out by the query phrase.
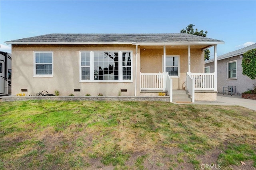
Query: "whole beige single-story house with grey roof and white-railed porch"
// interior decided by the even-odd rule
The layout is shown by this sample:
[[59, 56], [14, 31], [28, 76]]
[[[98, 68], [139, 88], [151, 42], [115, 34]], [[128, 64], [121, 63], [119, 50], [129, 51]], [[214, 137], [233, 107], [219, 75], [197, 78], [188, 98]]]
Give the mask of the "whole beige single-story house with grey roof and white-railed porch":
[[224, 42], [186, 33], [46, 34], [6, 44], [12, 44], [12, 95], [150, 96], [145, 92], [162, 90], [172, 102], [173, 89], [186, 89], [194, 102], [216, 100], [216, 74], [204, 74], [204, 50], [214, 46], [217, 58], [216, 46]]

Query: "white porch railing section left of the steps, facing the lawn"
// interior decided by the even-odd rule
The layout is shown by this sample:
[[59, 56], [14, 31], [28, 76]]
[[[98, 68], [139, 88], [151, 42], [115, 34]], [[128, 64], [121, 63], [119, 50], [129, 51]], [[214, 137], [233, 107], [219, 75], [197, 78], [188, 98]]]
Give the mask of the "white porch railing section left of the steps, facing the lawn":
[[163, 73], [140, 73], [140, 90], [164, 90]]

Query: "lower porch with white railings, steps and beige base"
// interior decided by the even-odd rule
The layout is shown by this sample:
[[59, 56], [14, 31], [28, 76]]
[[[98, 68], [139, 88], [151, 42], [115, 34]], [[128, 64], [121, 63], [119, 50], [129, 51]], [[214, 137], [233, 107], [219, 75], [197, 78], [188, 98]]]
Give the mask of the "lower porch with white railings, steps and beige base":
[[[215, 101], [217, 91], [214, 89], [215, 73], [187, 73], [184, 90], [172, 88], [172, 79], [168, 73], [140, 73], [140, 95], [158, 96], [165, 93], [170, 102]], [[186, 92], [182, 92], [186, 91]]]

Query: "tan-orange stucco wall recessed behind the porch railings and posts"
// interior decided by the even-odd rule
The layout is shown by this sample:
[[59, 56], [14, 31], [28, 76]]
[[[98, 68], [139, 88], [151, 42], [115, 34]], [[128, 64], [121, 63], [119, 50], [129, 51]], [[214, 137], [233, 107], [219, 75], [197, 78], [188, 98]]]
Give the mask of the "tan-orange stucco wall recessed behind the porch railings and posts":
[[[141, 49], [140, 52], [140, 71], [142, 73], [159, 73], [162, 69], [163, 49]], [[173, 89], [184, 89], [186, 73], [188, 72], [188, 49], [166, 49], [166, 56], [180, 56], [180, 77], [172, 78]], [[190, 69], [192, 73], [204, 72], [204, 52], [201, 49], [190, 50]]]

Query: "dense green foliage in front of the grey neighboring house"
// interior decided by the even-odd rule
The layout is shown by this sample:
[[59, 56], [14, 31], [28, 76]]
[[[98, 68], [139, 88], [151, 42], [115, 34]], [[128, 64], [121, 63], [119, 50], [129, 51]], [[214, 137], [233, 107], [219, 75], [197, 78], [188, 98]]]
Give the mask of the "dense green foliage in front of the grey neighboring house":
[[252, 80], [256, 78], [256, 48], [243, 54], [242, 68], [242, 74]]

